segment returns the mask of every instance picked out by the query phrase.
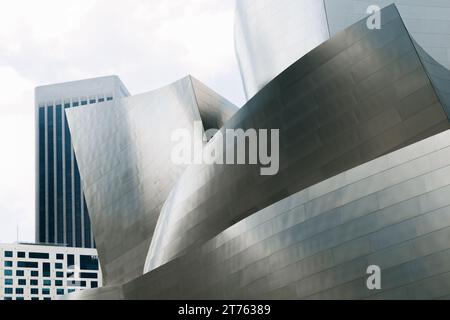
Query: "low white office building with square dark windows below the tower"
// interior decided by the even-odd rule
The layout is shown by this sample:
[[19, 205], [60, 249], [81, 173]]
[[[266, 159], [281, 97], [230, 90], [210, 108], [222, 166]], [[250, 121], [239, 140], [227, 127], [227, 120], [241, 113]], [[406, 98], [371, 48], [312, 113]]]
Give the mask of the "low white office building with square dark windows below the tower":
[[56, 300], [101, 286], [95, 249], [0, 244], [0, 300]]

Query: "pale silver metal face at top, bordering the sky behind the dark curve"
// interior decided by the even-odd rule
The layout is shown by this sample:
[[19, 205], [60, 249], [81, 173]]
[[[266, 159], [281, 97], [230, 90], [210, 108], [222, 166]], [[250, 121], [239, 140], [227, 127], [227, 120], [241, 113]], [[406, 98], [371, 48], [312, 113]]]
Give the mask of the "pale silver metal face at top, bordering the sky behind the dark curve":
[[236, 1], [235, 45], [248, 99], [328, 40], [322, 0]]

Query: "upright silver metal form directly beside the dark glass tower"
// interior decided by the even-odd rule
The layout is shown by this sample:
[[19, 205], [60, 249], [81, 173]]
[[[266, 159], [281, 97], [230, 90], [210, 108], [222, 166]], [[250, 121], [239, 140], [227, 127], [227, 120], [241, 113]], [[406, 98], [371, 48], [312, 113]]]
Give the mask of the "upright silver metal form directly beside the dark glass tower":
[[161, 206], [185, 169], [171, 161], [173, 131], [202, 119], [222, 125], [236, 110], [191, 77], [67, 110], [106, 285], [142, 275]]

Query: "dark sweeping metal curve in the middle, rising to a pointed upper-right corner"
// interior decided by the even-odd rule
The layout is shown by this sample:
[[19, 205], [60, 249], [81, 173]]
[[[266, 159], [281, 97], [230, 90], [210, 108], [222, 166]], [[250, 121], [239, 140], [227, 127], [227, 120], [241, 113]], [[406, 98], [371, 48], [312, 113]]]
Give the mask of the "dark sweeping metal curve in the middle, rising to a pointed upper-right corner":
[[450, 128], [397, 10], [383, 17], [381, 30], [363, 20], [311, 51], [225, 124], [280, 128], [279, 173], [189, 167], [161, 212], [146, 271], [292, 193]]

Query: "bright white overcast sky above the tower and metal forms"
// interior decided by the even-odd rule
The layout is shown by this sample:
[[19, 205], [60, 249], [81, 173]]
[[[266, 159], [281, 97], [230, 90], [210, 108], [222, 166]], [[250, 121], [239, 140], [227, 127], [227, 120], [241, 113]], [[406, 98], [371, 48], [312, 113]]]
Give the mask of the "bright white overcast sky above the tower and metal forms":
[[241, 106], [234, 0], [0, 0], [0, 243], [34, 241], [34, 88], [110, 74], [132, 94], [192, 74]]

